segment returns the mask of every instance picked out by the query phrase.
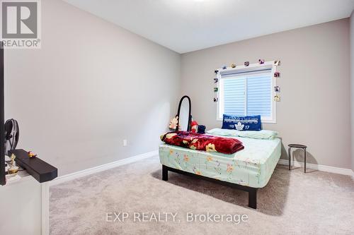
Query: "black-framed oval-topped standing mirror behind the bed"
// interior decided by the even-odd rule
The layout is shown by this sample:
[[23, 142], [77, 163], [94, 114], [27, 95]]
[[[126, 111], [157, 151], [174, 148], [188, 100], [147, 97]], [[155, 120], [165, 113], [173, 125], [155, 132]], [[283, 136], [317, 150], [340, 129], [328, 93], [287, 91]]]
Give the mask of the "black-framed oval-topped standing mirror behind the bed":
[[192, 119], [190, 109], [190, 98], [185, 95], [178, 104], [178, 124], [176, 131], [190, 131], [190, 121]]

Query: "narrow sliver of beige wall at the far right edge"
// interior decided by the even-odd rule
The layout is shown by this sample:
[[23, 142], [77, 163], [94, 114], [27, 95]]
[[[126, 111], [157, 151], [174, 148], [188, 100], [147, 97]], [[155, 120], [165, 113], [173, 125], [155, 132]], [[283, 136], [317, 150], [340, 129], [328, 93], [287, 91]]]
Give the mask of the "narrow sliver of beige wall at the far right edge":
[[351, 101], [351, 124], [352, 124], [352, 170], [354, 171], [354, 11], [350, 16], [350, 101]]

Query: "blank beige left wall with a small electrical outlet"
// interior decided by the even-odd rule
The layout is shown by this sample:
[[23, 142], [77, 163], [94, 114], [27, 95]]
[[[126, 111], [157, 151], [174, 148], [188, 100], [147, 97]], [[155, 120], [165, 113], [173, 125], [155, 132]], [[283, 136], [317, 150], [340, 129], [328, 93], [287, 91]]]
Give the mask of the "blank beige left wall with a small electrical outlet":
[[20, 125], [18, 147], [59, 175], [156, 150], [176, 112], [180, 59], [72, 5], [42, 1], [42, 49], [5, 51], [5, 114]]

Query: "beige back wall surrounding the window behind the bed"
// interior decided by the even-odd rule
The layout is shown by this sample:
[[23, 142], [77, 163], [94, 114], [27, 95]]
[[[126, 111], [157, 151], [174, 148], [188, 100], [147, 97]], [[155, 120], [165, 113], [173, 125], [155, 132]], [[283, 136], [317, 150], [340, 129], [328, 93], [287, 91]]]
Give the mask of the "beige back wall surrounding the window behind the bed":
[[181, 95], [190, 95], [194, 119], [207, 129], [221, 127], [213, 71], [260, 58], [281, 60], [278, 122], [263, 128], [279, 131], [284, 146], [308, 145], [309, 162], [350, 168], [348, 18], [183, 54]]

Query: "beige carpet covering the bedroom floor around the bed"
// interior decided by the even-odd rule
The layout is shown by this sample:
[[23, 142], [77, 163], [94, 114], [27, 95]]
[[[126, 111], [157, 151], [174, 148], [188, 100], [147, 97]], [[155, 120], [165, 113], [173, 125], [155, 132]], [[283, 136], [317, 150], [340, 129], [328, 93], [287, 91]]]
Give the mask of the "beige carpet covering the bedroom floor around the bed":
[[[107, 212], [127, 212], [129, 217], [106, 222]], [[153, 212], [177, 215], [175, 222], [172, 217], [169, 222], [154, 217], [134, 222], [134, 212], [149, 212], [149, 218]], [[187, 222], [188, 212], [249, 218], [239, 224]], [[253, 210], [243, 191], [171, 172], [169, 181], [161, 181], [159, 158], [152, 157], [52, 186], [50, 233], [354, 234], [354, 182], [350, 176], [278, 166], [258, 191], [258, 209]]]

